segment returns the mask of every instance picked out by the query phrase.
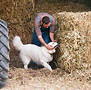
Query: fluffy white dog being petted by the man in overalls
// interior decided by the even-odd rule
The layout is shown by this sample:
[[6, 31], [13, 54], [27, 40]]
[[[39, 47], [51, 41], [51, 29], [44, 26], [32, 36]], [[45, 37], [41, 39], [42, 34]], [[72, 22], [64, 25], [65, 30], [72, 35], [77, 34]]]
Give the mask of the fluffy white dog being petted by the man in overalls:
[[45, 46], [39, 47], [33, 44], [23, 44], [19, 36], [15, 36], [13, 39], [13, 46], [20, 51], [20, 58], [23, 61], [24, 68], [28, 68], [28, 64], [33, 60], [38, 65], [42, 65], [45, 68], [52, 71], [51, 66], [47, 63], [52, 61], [53, 53], [55, 53], [55, 47], [57, 42], [50, 42], [49, 45], [54, 47], [53, 50], [48, 50]]

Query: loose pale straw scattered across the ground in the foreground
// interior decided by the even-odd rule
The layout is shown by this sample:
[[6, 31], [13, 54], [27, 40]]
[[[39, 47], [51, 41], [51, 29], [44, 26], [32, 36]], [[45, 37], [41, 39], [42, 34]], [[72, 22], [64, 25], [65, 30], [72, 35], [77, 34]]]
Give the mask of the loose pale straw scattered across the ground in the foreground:
[[46, 68], [10, 68], [9, 79], [3, 90], [90, 90], [91, 85], [78, 77], [76, 72], [72, 76], [60, 69], [50, 72]]

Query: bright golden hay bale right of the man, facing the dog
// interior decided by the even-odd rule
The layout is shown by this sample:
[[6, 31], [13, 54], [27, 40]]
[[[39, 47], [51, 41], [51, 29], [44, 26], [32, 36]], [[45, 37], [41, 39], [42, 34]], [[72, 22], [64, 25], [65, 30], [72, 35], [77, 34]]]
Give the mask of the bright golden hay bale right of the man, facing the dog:
[[56, 39], [60, 42], [56, 60], [60, 68], [69, 72], [91, 68], [91, 12], [60, 12]]

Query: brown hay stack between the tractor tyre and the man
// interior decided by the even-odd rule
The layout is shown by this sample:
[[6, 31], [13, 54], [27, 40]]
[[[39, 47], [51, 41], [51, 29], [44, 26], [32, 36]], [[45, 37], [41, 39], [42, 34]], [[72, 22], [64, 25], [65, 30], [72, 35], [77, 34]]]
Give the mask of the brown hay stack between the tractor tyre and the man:
[[19, 35], [23, 43], [31, 42], [34, 17], [34, 0], [0, 1], [0, 19], [8, 24], [11, 56], [15, 53], [15, 50], [12, 51], [12, 39], [15, 35]]

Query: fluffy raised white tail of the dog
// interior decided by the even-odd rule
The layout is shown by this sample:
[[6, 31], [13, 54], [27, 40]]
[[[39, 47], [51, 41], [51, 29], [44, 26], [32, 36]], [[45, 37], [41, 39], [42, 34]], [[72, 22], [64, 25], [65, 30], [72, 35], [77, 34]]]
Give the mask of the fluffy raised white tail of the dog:
[[13, 39], [13, 46], [17, 49], [17, 50], [21, 50], [23, 43], [21, 42], [21, 39], [19, 36], [15, 36]]

